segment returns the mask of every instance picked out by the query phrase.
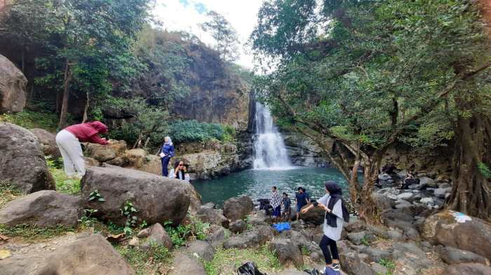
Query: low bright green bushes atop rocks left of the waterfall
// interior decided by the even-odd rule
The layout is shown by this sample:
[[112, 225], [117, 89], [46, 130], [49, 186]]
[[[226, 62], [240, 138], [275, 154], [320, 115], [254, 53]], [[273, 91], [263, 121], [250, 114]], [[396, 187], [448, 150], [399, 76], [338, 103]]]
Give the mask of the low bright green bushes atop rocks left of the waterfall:
[[181, 120], [170, 125], [170, 136], [176, 142], [222, 140], [225, 134], [222, 125], [217, 123]]

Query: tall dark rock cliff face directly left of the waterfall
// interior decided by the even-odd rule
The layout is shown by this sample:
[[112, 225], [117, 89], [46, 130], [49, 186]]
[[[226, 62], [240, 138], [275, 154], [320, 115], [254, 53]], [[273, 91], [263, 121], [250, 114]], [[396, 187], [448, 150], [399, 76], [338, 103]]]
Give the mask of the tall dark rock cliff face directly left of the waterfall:
[[232, 73], [214, 50], [203, 45], [187, 45], [192, 60], [189, 96], [175, 102], [173, 111], [187, 119], [248, 128], [248, 84]]

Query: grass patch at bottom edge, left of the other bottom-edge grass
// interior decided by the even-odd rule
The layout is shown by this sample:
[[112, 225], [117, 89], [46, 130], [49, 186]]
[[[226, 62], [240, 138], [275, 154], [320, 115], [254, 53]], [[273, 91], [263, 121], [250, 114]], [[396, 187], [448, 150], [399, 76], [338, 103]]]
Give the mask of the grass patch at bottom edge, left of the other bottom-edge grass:
[[165, 246], [151, 243], [150, 248], [141, 250], [130, 246], [115, 246], [137, 275], [158, 274], [159, 267], [170, 260], [170, 253]]

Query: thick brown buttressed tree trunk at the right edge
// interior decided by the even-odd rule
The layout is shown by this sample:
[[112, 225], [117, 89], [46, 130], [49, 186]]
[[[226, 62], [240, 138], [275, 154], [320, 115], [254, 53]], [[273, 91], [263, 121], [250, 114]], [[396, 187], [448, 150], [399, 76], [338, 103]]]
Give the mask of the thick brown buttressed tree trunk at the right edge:
[[[447, 205], [455, 211], [490, 220], [490, 180], [481, 173], [478, 164], [490, 167], [491, 121], [471, 111], [475, 107], [474, 101], [463, 101], [456, 99], [460, 106], [455, 129], [453, 186]], [[463, 110], [470, 110], [471, 115], [462, 115]]]

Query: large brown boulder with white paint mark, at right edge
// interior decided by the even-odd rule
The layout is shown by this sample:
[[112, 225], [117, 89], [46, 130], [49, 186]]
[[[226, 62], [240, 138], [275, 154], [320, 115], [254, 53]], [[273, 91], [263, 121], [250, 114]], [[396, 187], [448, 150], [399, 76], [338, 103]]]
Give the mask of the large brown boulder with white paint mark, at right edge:
[[491, 224], [455, 211], [426, 218], [422, 235], [433, 244], [452, 246], [491, 258]]

